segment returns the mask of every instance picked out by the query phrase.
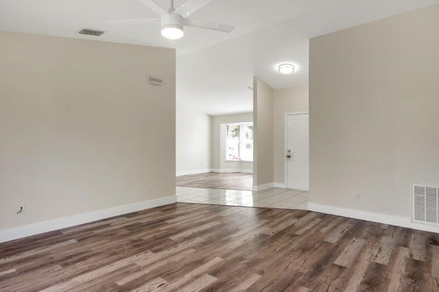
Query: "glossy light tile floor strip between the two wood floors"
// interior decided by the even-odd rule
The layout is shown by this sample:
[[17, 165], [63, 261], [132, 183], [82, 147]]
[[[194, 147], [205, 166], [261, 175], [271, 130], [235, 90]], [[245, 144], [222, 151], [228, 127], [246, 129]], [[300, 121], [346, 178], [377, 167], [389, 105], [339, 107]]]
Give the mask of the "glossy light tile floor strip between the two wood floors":
[[177, 201], [195, 204], [222, 204], [241, 207], [269, 207], [307, 210], [307, 191], [293, 189], [264, 189], [263, 191], [237, 191], [232, 189], [200, 189], [176, 187]]

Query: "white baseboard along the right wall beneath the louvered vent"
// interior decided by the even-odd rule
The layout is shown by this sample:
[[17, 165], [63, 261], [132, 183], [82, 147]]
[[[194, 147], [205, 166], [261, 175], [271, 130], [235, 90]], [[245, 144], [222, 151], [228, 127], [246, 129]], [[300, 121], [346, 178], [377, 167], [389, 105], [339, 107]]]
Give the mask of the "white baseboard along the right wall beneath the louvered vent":
[[396, 217], [391, 215], [370, 213], [370, 212], [358, 211], [353, 209], [344, 209], [344, 208], [338, 208], [338, 207], [332, 207], [332, 206], [314, 204], [314, 203], [308, 203], [308, 210], [319, 212], [319, 213], [339, 215], [339, 216], [349, 217], [359, 220], [366, 220], [371, 222], [378, 222], [378, 223], [389, 224], [394, 226], [401, 226], [406, 228], [429, 231], [433, 233], [439, 233], [439, 228], [437, 226], [413, 223], [410, 221], [410, 217]]

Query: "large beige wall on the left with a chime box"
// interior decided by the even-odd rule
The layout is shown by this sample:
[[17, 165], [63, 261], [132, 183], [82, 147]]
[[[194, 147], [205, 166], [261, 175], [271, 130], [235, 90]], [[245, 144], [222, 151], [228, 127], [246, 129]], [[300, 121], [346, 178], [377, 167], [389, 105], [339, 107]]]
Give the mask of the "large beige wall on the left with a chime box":
[[0, 230], [174, 196], [175, 62], [174, 49], [0, 31]]

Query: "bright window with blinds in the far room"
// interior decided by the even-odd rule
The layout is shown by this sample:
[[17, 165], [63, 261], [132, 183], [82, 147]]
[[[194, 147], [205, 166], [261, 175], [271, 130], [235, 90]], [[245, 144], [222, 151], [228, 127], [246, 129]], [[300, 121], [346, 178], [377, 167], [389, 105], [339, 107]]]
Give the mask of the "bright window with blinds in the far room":
[[253, 161], [253, 123], [226, 124], [226, 161]]

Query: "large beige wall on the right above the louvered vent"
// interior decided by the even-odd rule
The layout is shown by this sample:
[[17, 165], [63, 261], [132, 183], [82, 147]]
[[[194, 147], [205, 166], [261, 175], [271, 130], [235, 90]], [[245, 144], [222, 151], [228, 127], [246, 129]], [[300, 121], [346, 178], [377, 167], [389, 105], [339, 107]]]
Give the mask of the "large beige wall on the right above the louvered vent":
[[410, 217], [439, 183], [438, 27], [435, 5], [311, 39], [311, 203]]

